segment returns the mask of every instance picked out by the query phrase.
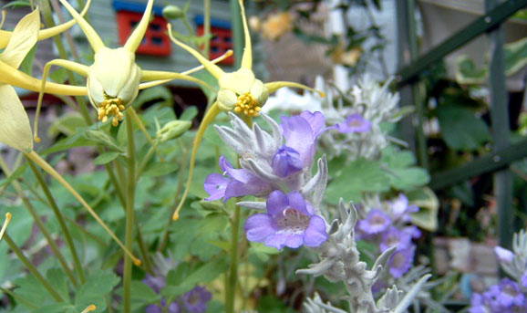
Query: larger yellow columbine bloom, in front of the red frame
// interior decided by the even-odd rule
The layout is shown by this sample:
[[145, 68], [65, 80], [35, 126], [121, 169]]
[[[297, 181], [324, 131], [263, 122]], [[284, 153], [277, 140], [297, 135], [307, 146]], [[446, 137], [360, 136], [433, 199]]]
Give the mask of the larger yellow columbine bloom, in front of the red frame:
[[[89, 45], [95, 51], [95, 61], [88, 67], [64, 59], [52, 60], [44, 68], [43, 86], [47, 84], [46, 78], [49, 68], [54, 65], [67, 68], [86, 77], [88, 98], [94, 108], [98, 110], [98, 120], [106, 122], [109, 118], [112, 118], [112, 125], [119, 125], [119, 121], [124, 117], [123, 111], [136, 99], [140, 89], [149, 88], [171, 79], [189, 80], [209, 87], [202, 80], [185, 74], [141, 70], [137, 65], [135, 51], [140, 47], [142, 38], [150, 23], [154, 0], [149, 0], [140, 23], [130, 35], [124, 47], [113, 49], [104, 46], [95, 29], [66, 0], [60, 0], [60, 3], [75, 18], [78, 26], [88, 38]], [[141, 81], [150, 81], [150, 83], [141, 84]], [[38, 108], [40, 108], [41, 99], [42, 94], [39, 97]]]

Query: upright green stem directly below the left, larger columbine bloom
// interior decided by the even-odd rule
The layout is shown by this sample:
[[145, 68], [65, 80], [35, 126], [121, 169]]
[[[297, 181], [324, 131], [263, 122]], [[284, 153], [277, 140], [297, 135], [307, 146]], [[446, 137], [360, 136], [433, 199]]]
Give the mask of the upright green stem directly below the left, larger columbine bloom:
[[[131, 251], [133, 244], [133, 225], [134, 225], [134, 200], [135, 200], [135, 146], [133, 137], [133, 120], [129, 114], [126, 115], [126, 130], [128, 136], [128, 186], [126, 193], [126, 242], [125, 245]], [[129, 257], [124, 260], [124, 311], [130, 312], [130, 291], [131, 291], [131, 267]]]

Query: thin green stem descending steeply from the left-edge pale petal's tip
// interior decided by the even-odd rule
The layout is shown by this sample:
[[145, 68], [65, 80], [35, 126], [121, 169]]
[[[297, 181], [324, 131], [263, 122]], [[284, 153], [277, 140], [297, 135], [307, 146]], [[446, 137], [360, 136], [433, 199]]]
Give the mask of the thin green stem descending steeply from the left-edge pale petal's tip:
[[42, 187], [42, 190], [44, 191], [44, 194], [46, 195], [47, 203], [49, 203], [49, 206], [51, 206], [51, 209], [53, 210], [55, 217], [57, 217], [57, 222], [60, 225], [62, 232], [64, 233], [67, 246], [69, 247], [69, 251], [71, 252], [71, 256], [73, 257], [73, 263], [75, 265], [78, 278], [80, 279], [81, 283], [84, 283], [86, 280], [84, 276], [84, 271], [83, 271], [82, 265], [80, 264], [80, 259], [78, 258], [77, 249], [75, 248], [73, 239], [71, 238], [71, 235], [69, 234], [69, 229], [67, 228], [66, 222], [64, 221], [64, 217], [60, 213], [60, 210], [58, 210], [57, 203], [55, 202], [53, 195], [49, 191], [49, 188], [47, 188], [47, 183], [46, 181], [44, 181], [44, 177], [42, 176], [42, 173], [38, 171], [33, 161], [27, 158], [26, 158], [26, 161], [29, 164], [29, 167], [31, 167], [31, 170], [35, 173], [36, 180], [38, 181], [38, 183], [40, 183], [40, 186]]

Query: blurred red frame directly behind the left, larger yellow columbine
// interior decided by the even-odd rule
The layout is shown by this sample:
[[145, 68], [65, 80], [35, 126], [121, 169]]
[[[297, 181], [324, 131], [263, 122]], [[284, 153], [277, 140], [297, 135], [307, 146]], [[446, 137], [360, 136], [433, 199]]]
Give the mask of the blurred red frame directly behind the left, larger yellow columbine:
[[[119, 25], [119, 41], [124, 45], [132, 30], [140, 23], [142, 14], [118, 11], [117, 22]], [[167, 20], [161, 16], [154, 16], [150, 22], [145, 37], [137, 53], [150, 56], [170, 56], [172, 52], [171, 39], [167, 35]]]

